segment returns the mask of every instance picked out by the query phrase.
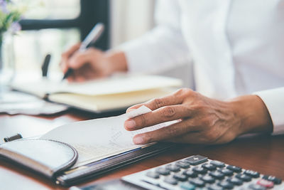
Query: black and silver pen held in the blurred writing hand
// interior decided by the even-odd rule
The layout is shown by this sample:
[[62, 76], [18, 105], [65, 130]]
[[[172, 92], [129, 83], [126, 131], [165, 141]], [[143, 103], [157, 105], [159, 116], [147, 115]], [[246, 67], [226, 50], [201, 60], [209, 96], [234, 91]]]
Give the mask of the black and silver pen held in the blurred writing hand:
[[[82, 41], [81, 46], [78, 51], [85, 51], [89, 45], [92, 43], [95, 43], [99, 37], [104, 32], [104, 24], [103, 23], [97, 23], [94, 28], [92, 28], [92, 31], [89, 32], [86, 38], [84, 38], [84, 41]], [[64, 74], [62, 80], [65, 80], [65, 78], [68, 78], [72, 74], [73, 70], [72, 68], [68, 68], [67, 72]]]

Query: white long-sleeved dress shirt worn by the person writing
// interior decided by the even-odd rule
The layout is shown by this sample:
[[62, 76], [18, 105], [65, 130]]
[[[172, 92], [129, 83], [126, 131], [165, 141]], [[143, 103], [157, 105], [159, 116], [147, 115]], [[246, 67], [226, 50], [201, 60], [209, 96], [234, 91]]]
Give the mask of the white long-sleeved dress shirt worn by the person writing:
[[[193, 60], [199, 93], [256, 94], [273, 133], [284, 133], [284, 1], [161, 0], [157, 26], [121, 46], [130, 72], [157, 73]], [[137, 24], [139, 22], [137, 21]]]

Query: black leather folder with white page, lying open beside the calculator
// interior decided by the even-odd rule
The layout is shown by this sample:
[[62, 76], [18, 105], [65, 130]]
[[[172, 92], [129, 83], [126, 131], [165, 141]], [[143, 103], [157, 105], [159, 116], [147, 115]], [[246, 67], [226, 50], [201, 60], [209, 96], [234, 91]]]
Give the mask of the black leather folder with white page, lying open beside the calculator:
[[124, 129], [125, 120], [147, 112], [151, 110], [142, 106], [116, 117], [62, 125], [41, 137], [6, 142], [0, 144], [0, 158], [47, 176], [56, 184], [75, 184], [173, 147], [163, 142], [133, 144], [135, 134], [178, 122], [165, 122], [132, 132]]

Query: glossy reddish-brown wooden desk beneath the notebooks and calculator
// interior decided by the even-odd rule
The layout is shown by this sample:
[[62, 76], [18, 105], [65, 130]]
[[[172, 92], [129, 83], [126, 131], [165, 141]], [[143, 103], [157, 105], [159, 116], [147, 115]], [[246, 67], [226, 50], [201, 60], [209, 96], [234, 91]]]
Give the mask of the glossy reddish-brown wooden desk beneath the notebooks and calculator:
[[[113, 114], [119, 114], [116, 112]], [[104, 115], [107, 116], [107, 115]], [[51, 117], [32, 117], [27, 115], [0, 115], [0, 137], [21, 133], [23, 137], [40, 135], [59, 125], [77, 120], [87, 120], [95, 118], [97, 115], [77, 112], [75, 110], [61, 115]], [[270, 136], [257, 135], [240, 137], [229, 144], [214, 146], [197, 146], [190, 144], [180, 144], [178, 149], [164, 152], [155, 157], [145, 159], [136, 164], [111, 171], [92, 181], [103, 181], [115, 179], [121, 176], [132, 174], [137, 171], [173, 162], [194, 154], [201, 154], [210, 159], [217, 159], [228, 164], [234, 164], [245, 169], [252, 169], [263, 174], [271, 174], [284, 179], [284, 135]], [[82, 184], [81, 184], [82, 185]], [[47, 179], [33, 174], [25, 169], [18, 169], [12, 164], [0, 160], [0, 189], [64, 189], [55, 186]]]

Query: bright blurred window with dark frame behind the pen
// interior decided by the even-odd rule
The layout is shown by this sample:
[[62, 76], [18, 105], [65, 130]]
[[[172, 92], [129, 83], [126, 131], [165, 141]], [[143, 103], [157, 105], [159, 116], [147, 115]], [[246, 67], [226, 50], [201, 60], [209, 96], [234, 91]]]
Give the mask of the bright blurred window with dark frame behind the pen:
[[50, 70], [58, 70], [62, 51], [82, 40], [95, 23], [105, 24], [105, 32], [96, 46], [109, 48], [109, 1], [43, 0], [33, 5], [21, 21], [22, 31], [14, 37], [16, 70], [38, 70], [47, 53]]

